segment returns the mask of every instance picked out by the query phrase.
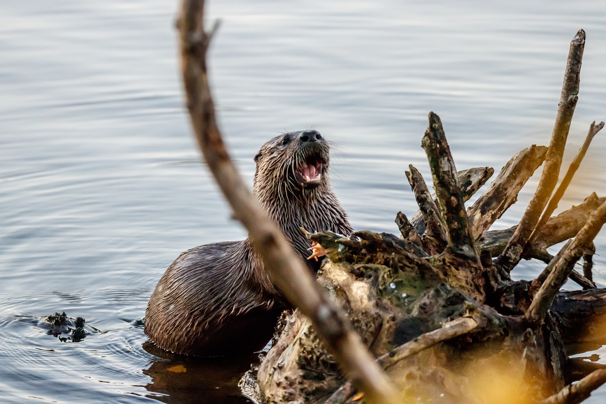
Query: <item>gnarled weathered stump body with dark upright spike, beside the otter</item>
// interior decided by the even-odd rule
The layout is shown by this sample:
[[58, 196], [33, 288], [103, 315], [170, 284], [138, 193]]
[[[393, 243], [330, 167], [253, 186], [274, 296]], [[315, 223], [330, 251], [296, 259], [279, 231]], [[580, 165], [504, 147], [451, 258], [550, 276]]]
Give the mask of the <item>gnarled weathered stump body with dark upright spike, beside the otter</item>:
[[[453, 181], [454, 164], [449, 161], [439, 119], [433, 114], [430, 118], [434, 119], [428, 132], [441, 133], [432, 136], [433, 140], [427, 139], [425, 144], [442, 219], [449, 229], [448, 239], [453, 240], [449, 243], [467, 246], [467, 251], [461, 253], [464, 248], [456, 251], [448, 247], [444, 253], [428, 257], [410, 240], [389, 234], [365, 231], [349, 238], [328, 232], [311, 234], [310, 239], [324, 247], [329, 259], [318, 273], [318, 281], [348, 311], [373, 354], [382, 356], [379, 363], [388, 368], [405, 397], [433, 397], [439, 391], [450, 402], [481, 402], [476, 396], [485, 399], [491, 388], [476, 391], [468, 384], [476, 379], [473, 369], [500, 366], [497, 364], [504, 360], [514, 374], [527, 375], [516, 382], [522, 386], [518, 394], [533, 400], [544, 399], [564, 385], [565, 357], [559, 348], [558, 330], [550, 323], [546, 328], [525, 333], [528, 325], [523, 316], [503, 316], [481, 304], [490, 292], [486, 282], [490, 280], [491, 285], [496, 285], [503, 281], [490, 259], [482, 260], [481, 264], [477, 255], [469, 254], [470, 248], [474, 251], [474, 240], [469, 228], [460, 222], [465, 209], [458, 185]], [[441, 158], [447, 162], [435, 164]], [[448, 167], [447, 172], [441, 167]], [[425, 191], [418, 194], [427, 196]], [[419, 204], [425, 203], [427, 197]], [[403, 236], [410, 234], [410, 226], [404, 223], [401, 228], [405, 229]], [[457, 234], [458, 231], [463, 233]], [[474, 311], [487, 320], [478, 322], [474, 317], [482, 325], [472, 334], [461, 336], [471, 328], [453, 329], [454, 334], [441, 328], [445, 321], [468, 322], [458, 319]], [[470, 342], [476, 348], [459, 349]], [[477, 356], [475, 349], [483, 354]], [[549, 353], [548, 357], [545, 353]], [[432, 363], [429, 368], [427, 361]], [[454, 374], [456, 368], [470, 373]], [[324, 352], [308, 320], [295, 313], [259, 368], [259, 396], [268, 403], [327, 399], [328, 403], [344, 402], [351, 399], [354, 390], [343, 384], [343, 377], [335, 370], [335, 360]], [[335, 391], [338, 392], [330, 397]]]

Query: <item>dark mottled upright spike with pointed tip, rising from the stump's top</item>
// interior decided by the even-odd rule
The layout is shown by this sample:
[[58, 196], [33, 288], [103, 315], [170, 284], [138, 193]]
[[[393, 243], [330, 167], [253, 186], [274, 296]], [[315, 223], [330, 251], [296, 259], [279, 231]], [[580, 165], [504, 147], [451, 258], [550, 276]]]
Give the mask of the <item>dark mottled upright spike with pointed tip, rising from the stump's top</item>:
[[448, 248], [478, 260], [476, 243], [471, 237], [467, 211], [457, 182], [450, 147], [446, 141], [440, 117], [429, 113], [429, 125], [421, 141], [431, 168], [433, 188], [448, 231]]

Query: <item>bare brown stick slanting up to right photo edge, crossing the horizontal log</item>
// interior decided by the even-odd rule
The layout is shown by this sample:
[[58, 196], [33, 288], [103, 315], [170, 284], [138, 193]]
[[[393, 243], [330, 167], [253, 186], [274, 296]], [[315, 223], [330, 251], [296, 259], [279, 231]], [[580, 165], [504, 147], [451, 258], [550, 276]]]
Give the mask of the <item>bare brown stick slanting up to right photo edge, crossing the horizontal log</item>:
[[[574, 263], [576, 263], [590, 243], [596, 237], [602, 225], [606, 222], [606, 202], [601, 205], [593, 214], [591, 214], [587, 224], [579, 231], [574, 240], [568, 247], [563, 248], [558, 255], [561, 255], [553, 265], [553, 270], [547, 276], [547, 279], [541, 286], [541, 289], [534, 296], [533, 302], [526, 312], [526, 318], [532, 322], [541, 323], [547, 314], [547, 310], [553, 299], [558, 294], [558, 291], [566, 282], [568, 274], [572, 271]], [[557, 256], [556, 256], [557, 257]], [[551, 260], [554, 262], [556, 258]], [[550, 263], [551, 265], [551, 263]]]

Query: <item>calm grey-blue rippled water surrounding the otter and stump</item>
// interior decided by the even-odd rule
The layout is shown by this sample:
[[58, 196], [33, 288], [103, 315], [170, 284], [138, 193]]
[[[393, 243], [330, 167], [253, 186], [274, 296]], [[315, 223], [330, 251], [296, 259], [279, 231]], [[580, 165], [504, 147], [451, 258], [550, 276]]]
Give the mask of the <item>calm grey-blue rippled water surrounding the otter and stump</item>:
[[[394, 233], [395, 213], [416, 210], [407, 165], [429, 176], [428, 111], [459, 169], [499, 170], [547, 144], [578, 28], [587, 45], [567, 161], [590, 122], [606, 119], [603, 2], [417, 3], [211, 2], [223, 20], [212, 81], [249, 181], [262, 143], [313, 126], [338, 145], [332, 180], [354, 227]], [[167, 356], [139, 321], [181, 251], [244, 237], [190, 136], [175, 10], [160, 0], [0, 5], [2, 403], [246, 402], [235, 383], [253, 358]], [[606, 194], [604, 136], [562, 207]], [[499, 227], [518, 221], [532, 191]], [[606, 286], [606, 237], [596, 244]], [[63, 343], [38, 326], [55, 311], [99, 331]], [[606, 363], [606, 349], [593, 354]], [[603, 387], [588, 402], [605, 398]]]

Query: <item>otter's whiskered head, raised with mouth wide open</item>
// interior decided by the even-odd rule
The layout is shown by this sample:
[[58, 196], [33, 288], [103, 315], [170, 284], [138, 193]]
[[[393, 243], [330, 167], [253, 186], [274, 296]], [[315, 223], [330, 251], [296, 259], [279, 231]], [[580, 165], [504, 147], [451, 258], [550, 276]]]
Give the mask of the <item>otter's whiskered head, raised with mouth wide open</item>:
[[265, 143], [255, 156], [253, 190], [265, 197], [288, 198], [328, 185], [328, 142], [317, 130], [289, 132]]

